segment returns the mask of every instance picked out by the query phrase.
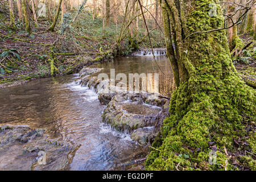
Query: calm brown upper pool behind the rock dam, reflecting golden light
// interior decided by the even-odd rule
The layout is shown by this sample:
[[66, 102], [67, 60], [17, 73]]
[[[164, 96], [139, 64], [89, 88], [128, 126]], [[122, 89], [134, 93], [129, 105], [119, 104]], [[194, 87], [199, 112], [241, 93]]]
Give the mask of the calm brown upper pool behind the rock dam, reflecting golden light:
[[[156, 64], [157, 63], [157, 64]], [[127, 80], [129, 73], [148, 73], [159, 74], [159, 93], [164, 96], [171, 96], [176, 86], [174, 82], [174, 75], [172, 73], [171, 64], [166, 56], [156, 56], [156, 63], [152, 57], [149, 56], [134, 56], [134, 57], [118, 57], [111, 62], [92, 65], [93, 68], [105, 68], [100, 73], [107, 73], [110, 78], [110, 69], [115, 69], [115, 76], [118, 73], [125, 73]], [[160, 69], [158, 68], [160, 67]], [[99, 73], [94, 74], [97, 76]], [[152, 78], [152, 85], [154, 86], [154, 75]], [[148, 79], [148, 77], [147, 77]]]

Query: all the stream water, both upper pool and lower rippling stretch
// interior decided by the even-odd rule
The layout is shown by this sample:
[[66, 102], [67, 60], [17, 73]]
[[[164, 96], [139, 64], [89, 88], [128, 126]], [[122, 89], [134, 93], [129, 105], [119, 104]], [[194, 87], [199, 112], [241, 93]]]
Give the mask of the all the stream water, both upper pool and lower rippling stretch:
[[[121, 57], [92, 67], [115, 68], [116, 73], [159, 73], [160, 93], [170, 96], [174, 78], [164, 56]], [[79, 85], [79, 75], [42, 78], [0, 90], [0, 124], [45, 128], [52, 138], [79, 143], [70, 170], [108, 170], [114, 164], [147, 155], [129, 134], [119, 133], [102, 122], [97, 94]], [[11, 155], [11, 154], [10, 154]], [[1, 154], [0, 154], [1, 157]]]

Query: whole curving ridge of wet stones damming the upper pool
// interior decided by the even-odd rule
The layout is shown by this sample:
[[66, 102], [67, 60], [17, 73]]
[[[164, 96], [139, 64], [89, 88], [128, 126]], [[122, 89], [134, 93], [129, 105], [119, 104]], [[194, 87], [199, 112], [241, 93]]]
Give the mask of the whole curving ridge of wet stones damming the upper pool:
[[131, 138], [142, 146], [154, 140], [168, 115], [169, 100], [160, 94], [129, 92], [110, 85], [110, 80], [101, 81], [92, 76], [82, 78], [80, 84], [94, 89], [98, 100], [107, 104], [102, 114], [103, 121], [119, 131], [129, 132]]

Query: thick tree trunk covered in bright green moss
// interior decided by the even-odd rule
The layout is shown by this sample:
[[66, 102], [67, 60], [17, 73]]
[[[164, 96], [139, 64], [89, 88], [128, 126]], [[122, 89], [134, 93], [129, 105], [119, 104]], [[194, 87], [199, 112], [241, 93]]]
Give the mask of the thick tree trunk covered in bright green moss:
[[[255, 119], [255, 90], [232, 64], [226, 31], [191, 35], [224, 26], [219, 5], [217, 14], [209, 15], [214, 2], [160, 1], [177, 89], [171, 97], [170, 117], [146, 160], [148, 170], [232, 169], [224, 151], [234, 152], [234, 139], [244, 137], [245, 126]], [[255, 146], [255, 139], [251, 141], [249, 146]], [[217, 162], [210, 165], [213, 143], [220, 150]]]

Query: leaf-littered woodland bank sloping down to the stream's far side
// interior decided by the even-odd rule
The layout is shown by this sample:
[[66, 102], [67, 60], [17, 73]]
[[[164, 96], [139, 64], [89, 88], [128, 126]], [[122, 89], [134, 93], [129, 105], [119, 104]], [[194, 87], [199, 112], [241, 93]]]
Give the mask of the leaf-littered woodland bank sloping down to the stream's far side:
[[[73, 17], [76, 13], [73, 10], [69, 15]], [[115, 43], [122, 22], [111, 22], [109, 26], [102, 28], [102, 18], [93, 19], [90, 11], [82, 11], [80, 20], [75, 20], [71, 27], [61, 24], [59, 18], [55, 32], [46, 31], [52, 22], [39, 17], [38, 27], [34, 26], [31, 34], [27, 34], [23, 23], [19, 22], [16, 9], [14, 14], [16, 28], [10, 27], [8, 1], [1, 3], [0, 88], [19, 85], [36, 78], [77, 73], [84, 66], [129, 55], [134, 49], [126, 36], [119, 46]], [[61, 30], [66, 27], [69, 30], [63, 37]], [[140, 47], [148, 48], [150, 42], [147, 37], [144, 38], [145, 32], [145, 28], [141, 28], [137, 39], [142, 40]], [[164, 47], [160, 30], [152, 30], [151, 38], [154, 47]]]

